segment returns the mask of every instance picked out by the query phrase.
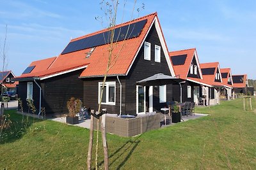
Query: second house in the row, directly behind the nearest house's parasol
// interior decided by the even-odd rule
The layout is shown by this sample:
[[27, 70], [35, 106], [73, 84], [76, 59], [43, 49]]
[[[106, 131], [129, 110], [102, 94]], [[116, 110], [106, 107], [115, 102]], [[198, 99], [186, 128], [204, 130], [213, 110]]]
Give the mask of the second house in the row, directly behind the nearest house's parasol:
[[[202, 71], [196, 53], [196, 48], [188, 50], [179, 50], [170, 52], [170, 59], [172, 60], [173, 69], [175, 74], [184, 80], [182, 83], [182, 102], [191, 101], [199, 104], [199, 101], [206, 99], [205, 104], [208, 105], [209, 101], [209, 88], [203, 82]], [[173, 85], [173, 101], [180, 101], [179, 99], [180, 86]], [[201, 100], [200, 100], [201, 99]]]

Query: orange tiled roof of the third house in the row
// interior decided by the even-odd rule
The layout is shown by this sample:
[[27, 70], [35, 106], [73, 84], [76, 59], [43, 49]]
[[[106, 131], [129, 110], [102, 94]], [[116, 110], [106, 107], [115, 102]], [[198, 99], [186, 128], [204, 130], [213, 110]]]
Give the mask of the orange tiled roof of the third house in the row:
[[[203, 82], [204, 83], [207, 83], [209, 85], [223, 86], [222, 83], [214, 81], [215, 80], [215, 74], [217, 73], [217, 70], [218, 70], [219, 66], [220, 66], [219, 62], [207, 62], [207, 63], [200, 64], [201, 69], [212, 68], [212, 67], [215, 68], [214, 74], [203, 75]], [[221, 73], [220, 73], [220, 78], [221, 78]]]

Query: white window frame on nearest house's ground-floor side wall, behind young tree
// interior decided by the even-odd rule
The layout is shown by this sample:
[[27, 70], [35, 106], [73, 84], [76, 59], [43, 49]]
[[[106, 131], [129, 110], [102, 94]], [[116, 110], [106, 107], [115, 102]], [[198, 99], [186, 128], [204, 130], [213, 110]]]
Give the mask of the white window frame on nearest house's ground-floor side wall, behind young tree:
[[[99, 82], [99, 86], [98, 86], [98, 104], [100, 103], [100, 87], [103, 85], [103, 82]], [[106, 88], [106, 103], [101, 103], [101, 104], [108, 104], [108, 105], [116, 105], [116, 82], [115, 81], [107, 81], [105, 82], [105, 86], [104, 88]], [[110, 102], [109, 101], [109, 87], [115, 87], [115, 102]]]

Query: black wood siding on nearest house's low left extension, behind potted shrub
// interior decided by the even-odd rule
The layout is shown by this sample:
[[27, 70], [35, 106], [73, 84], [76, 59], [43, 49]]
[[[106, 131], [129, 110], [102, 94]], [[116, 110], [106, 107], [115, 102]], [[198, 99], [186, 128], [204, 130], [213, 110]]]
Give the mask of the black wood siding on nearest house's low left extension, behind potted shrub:
[[78, 78], [82, 71], [83, 69], [42, 81], [42, 106], [45, 107], [46, 114], [68, 113], [67, 101], [70, 97], [83, 101], [83, 80]]

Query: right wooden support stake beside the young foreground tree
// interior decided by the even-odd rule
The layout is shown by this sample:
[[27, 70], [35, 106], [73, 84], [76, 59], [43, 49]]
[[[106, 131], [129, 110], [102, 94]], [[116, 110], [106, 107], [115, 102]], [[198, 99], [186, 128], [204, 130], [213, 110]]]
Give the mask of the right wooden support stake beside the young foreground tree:
[[103, 151], [104, 151], [104, 169], [108, 170], [108, 143], [106, 138], [106, 114], [102, 115], [101, 134], [102, 134], [102, 143], [103, 143]]

